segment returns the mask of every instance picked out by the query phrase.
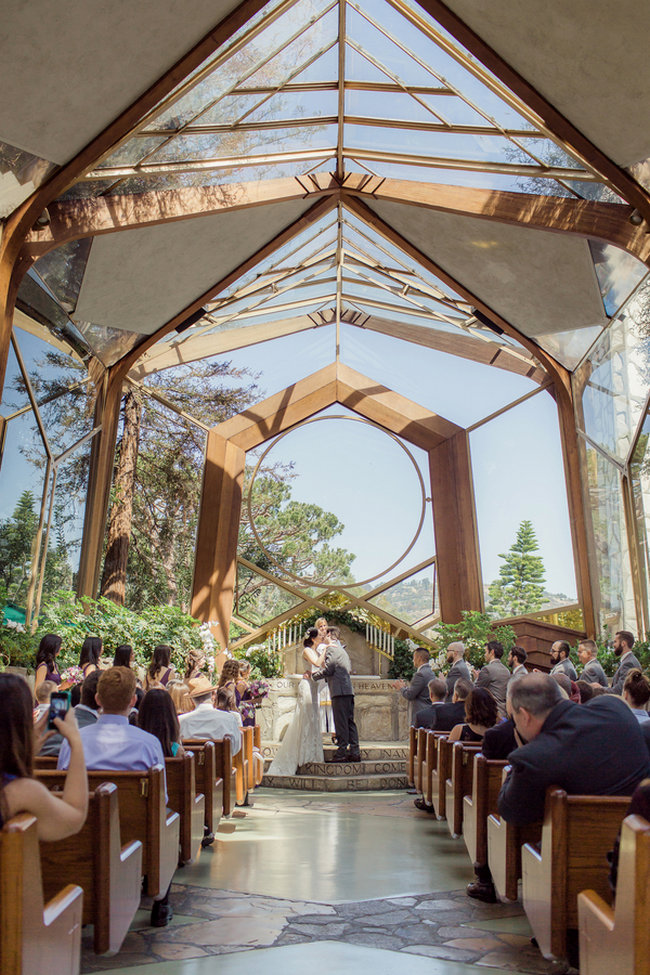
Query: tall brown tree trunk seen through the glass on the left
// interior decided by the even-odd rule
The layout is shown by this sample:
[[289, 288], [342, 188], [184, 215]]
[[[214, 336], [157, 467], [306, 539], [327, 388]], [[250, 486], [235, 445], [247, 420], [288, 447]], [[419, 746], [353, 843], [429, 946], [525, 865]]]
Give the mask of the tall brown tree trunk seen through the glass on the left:
[[126, 565], [129, 558], [135, 471], [140, 443], [142, 405], [134, 389], [124, 397], [124, 429], [115, 471], [114, 500], [108, 516], [106, 557], [101, 594], [119, 606], [126, 597]]

